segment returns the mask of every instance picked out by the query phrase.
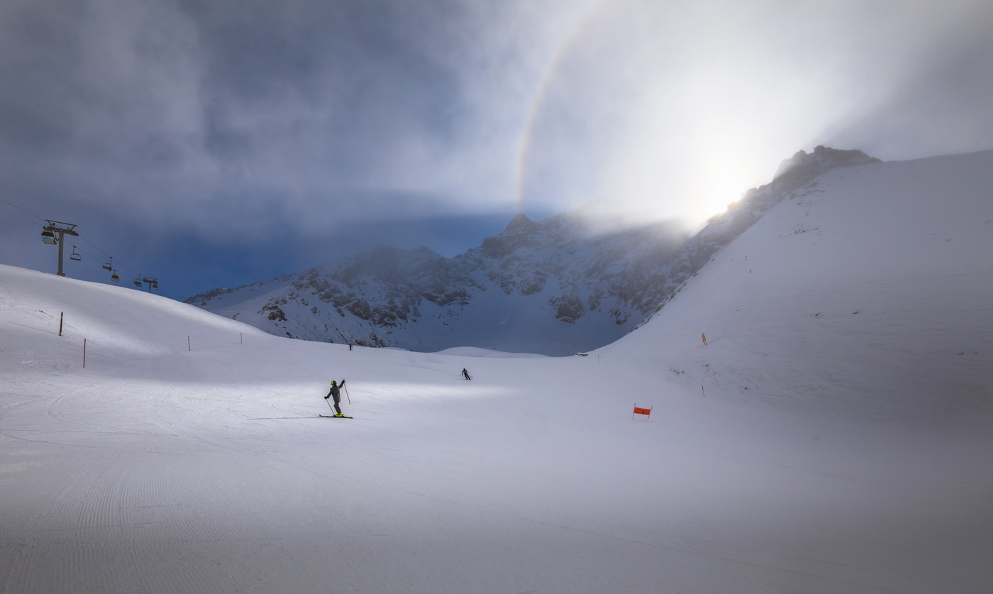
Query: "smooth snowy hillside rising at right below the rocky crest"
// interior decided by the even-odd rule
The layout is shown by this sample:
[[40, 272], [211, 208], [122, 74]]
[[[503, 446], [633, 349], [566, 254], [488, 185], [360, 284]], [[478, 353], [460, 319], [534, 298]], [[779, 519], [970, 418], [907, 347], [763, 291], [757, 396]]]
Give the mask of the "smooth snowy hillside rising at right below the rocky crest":
[[928, 426], [989, 409], [993, 151], [820, 176], [609, 350], [732, 398]]

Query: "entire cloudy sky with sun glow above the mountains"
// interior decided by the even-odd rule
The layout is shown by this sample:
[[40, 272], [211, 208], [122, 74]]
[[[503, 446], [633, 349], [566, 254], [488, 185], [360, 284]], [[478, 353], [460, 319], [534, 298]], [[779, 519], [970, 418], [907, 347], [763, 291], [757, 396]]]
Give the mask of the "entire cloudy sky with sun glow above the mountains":
[[2, 0], [0, 262], [77, 223], [184, 298], [594, 200], [699, 224], [817, 144], [993, 148], [991, 7]]

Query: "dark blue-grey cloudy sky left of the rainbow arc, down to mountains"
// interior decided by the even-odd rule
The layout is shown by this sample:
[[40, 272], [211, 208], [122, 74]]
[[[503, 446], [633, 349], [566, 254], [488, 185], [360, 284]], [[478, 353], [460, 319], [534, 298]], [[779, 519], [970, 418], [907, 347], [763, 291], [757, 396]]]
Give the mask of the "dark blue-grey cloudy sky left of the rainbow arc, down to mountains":
[[[0, 196], [32, 214], [0, 205], [0, 261], [53, 271], [34, 215], [174, 297], [478, 244], [515, 214], [529, 98], [570, 26], [556, 4], [0, 4]], [[92, 257], [69, 274], [105, 280], [76, 243]]]

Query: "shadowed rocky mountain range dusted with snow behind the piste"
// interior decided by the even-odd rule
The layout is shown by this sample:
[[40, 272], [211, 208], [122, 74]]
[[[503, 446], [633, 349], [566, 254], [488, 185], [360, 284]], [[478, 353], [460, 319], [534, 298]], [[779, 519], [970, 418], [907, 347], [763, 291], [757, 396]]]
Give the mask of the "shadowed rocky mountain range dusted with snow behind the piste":
[[380, 247], [186, 302], [310, 341], [422, 352], [588, 351], [637, 328], [771, 207], [819, 192], [821, 174], [880, 162], [857, 150], [799, 151], [770, 184], [693, 236], [676, 223], [611, 224], [593, 204], [541, 222], [517, 215], [452, 258], [426, 247]]

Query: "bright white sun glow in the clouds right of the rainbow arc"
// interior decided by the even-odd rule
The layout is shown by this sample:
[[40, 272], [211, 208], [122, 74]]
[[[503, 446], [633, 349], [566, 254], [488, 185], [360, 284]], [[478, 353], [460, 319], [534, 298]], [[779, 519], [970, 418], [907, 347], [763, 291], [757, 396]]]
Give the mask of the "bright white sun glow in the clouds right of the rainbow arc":
[[[521, 166], [525, 202], [568, 210], [609, 200], [704, 223], [771, 182], [797, 150], [830, 145], [845, 122], [885, 97], [878, 81], [887, 67], [923, 47], [884, 33], [889, 43], [867, 62], [839, 45], [837, 33], [852, 22], [866, 24], [859, 34], [867, 40], [881, 35], [854, 5], [825, 15], [775, 3], [633, 2], [602, 4], [546, 76], [528, 136], [533, 150]], [[819, 34], [782, 30], [783, 19]]]

